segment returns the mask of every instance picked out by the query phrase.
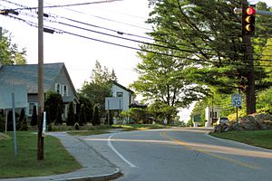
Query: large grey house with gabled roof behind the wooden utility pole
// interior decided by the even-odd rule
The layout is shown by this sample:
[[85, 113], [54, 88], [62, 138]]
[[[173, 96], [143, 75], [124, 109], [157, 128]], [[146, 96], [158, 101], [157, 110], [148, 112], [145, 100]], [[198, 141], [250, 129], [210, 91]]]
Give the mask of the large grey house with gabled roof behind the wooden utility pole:
[[[25, 103], [25, 114], [28, 117], [32, 116], [34, 105], [38, 106], [37, 66], [37, 64], [0, 66], [0, 86], [22, 85], [26, 87], [27, 102]], [[44, 93], [48, 90], [62, 95], [64, 102], [63, 119], [66, 119], [69, 103], [73, 102], [76, 105], [78, 98], [73, 82], [63, 62], [44, 63]], [[5, 102], [2, 102], [2, 105], [5, 105]]]

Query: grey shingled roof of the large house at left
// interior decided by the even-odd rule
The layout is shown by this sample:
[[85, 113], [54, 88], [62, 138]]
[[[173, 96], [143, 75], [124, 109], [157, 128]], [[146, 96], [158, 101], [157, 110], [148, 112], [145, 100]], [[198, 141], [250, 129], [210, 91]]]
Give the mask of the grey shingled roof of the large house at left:
[[[37, 64], [24, 65], [3, 65], [0, 68], [0, 84], [1, 85], [25, 85], [27, 93], [37, 93]], [[44, 92], [50, 90], [55, 79], [62, 69], [67, 73], [67, 78], [70, 79], [68, 71], [63, 62], [44, 63]], [[74, 90], [74, 87], [73, 87]], [[75, 90], [74, 90], [75, 91]]]

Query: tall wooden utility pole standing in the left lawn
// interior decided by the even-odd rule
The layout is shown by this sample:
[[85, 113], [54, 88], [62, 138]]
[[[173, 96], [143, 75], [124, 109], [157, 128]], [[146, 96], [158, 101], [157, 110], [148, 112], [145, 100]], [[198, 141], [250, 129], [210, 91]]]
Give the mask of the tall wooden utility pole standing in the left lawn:
[[44, 0], [38, 3], [38, 141], [37, 160], [44, 160]]

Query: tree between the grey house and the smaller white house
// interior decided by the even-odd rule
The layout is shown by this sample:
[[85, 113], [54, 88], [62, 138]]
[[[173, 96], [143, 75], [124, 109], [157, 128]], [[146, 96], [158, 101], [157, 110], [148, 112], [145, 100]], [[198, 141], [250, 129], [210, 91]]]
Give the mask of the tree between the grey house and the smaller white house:
[[105, 115], [105, 98], [112, 96], [112, 81], [116, 81], [114, 71], [112, 73], [107, 67], [103, 67], [100, 62], [95, 62], [95, 68], [92, 70], [91, 81], [85, 81], [80, 94], [92, 100], [92, 104], [100, 105], [102, 116]]

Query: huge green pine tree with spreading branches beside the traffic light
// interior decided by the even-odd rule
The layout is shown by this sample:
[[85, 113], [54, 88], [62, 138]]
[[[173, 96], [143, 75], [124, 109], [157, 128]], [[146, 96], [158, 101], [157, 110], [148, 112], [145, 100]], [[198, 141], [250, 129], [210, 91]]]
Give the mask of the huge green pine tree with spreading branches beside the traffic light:
[[[182, 70], [187, 81], [214, 87], [220, 93], [238, 89], [251, 93], [241, 22], [233, 13], [241, 5], [239, 1], [150, 0], [150, 5], [154, 8], [148, 23], [155, 27], [151, 36], [155, 43], [180, 51], [175, 55], [188, 62]], [[257, 90], [267, 88], [267, 82], [261, 81], [267, 76], [263, 67], [258, 67], [255, 75]], [[247, 107], [252, 108], [255, 101], [248, 99], [250, 96]]]

